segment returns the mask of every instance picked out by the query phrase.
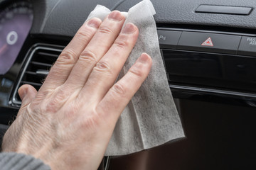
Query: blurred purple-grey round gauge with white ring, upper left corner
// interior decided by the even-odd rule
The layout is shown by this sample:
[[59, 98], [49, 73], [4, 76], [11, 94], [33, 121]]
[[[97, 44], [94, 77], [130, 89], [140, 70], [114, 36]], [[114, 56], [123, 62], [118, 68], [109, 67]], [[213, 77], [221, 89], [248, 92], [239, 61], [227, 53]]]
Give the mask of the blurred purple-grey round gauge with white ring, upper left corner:
[[14, 64], [31, 29], [32, 20], [31, 5], [26, 2], [11, 4], [0, 11], [0, 74], [8, 72]]

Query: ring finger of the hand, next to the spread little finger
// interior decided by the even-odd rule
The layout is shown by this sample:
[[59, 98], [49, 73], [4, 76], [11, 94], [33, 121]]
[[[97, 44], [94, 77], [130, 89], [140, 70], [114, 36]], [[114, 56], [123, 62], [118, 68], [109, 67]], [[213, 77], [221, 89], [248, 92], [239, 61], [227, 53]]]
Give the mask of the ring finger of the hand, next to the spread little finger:
[[126, 62], [137, 41], [138, 35], [138, 28], [132, 23], [127, 23], [107, 54], [93, 68], [78, 98], [84, 98], [87, 94], [86, 97], [93, 101], [100, 102], [102, 100], [116, 81], [124, 62]]

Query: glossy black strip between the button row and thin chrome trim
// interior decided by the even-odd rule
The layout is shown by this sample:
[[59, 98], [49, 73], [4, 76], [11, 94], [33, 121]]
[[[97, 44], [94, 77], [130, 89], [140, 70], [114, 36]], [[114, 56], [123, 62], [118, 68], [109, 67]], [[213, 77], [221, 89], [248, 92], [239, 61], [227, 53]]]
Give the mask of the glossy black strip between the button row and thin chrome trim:
[[256, 93], [256, 57], [163, 50], [170, 84]]

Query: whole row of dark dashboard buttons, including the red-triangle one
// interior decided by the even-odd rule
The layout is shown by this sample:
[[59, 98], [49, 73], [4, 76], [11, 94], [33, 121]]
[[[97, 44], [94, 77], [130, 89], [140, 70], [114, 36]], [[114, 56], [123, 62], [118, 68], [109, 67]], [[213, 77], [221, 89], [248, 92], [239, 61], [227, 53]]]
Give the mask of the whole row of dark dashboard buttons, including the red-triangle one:
[[256, 36], [157, 30], [161, 49], [213, 52], [256, 57]]

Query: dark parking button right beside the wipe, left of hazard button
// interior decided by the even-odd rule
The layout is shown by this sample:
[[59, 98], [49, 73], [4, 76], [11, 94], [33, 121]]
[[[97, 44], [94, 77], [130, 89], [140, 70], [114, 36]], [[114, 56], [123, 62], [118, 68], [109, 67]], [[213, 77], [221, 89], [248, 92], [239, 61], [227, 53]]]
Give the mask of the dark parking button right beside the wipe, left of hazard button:
[[181, 37], [181, 31], [174, 30], [157, 30], [159, 44], [161, 48], [176, 49], [178, 39]]

